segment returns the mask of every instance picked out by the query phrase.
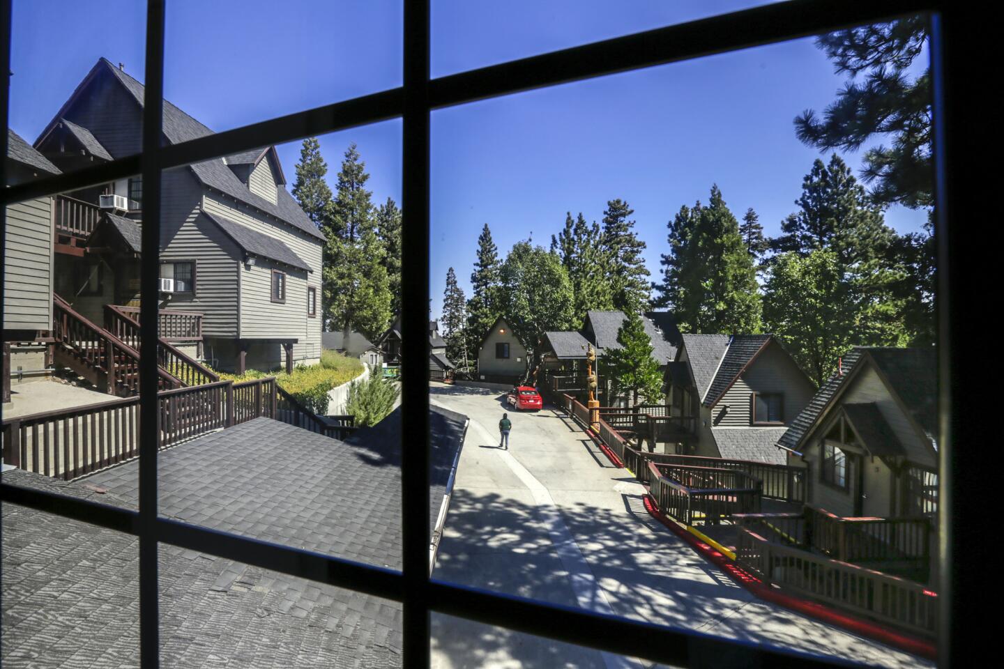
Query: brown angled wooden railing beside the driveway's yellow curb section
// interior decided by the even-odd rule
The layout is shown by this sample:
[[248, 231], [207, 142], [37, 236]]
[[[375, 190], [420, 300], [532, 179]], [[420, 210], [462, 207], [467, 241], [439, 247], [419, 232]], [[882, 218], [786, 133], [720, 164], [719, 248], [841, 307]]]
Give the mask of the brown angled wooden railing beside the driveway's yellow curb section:
[[718, 525], [760, 511], [760, 481], [734, 469], [649, 462], [649, 484], [659, 510], [685, 525]]

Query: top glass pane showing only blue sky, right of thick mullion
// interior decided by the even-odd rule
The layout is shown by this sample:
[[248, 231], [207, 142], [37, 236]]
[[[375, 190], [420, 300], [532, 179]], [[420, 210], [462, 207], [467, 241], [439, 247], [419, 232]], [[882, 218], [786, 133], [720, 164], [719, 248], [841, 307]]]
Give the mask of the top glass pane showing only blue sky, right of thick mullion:
[[[432, 3], [433, 76], [766, 4], [764, 0]], [[625, 11], [626, 10], [626, 11]]]

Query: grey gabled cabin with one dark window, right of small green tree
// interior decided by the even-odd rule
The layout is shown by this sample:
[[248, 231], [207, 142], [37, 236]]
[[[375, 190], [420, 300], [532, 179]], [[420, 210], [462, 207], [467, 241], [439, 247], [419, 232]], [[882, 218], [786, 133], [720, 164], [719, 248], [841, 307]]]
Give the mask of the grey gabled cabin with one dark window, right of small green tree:
[[775, 444], [815, 391], [769, 334], [682, 335], [665, 379], [677, 452], [776, 463], [786, 458]]

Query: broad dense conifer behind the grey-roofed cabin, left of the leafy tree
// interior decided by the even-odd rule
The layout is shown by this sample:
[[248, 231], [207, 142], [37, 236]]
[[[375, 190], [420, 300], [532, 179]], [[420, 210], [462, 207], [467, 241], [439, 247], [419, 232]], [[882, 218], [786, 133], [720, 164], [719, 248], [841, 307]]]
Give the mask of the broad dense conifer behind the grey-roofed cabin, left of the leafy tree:
[[756, 267], [739, 222], [711, 188], [707, 207], [686, 206], [669, 223], [658, 306], [670, 307], [685, 332], [757, 333], [761, 303]]

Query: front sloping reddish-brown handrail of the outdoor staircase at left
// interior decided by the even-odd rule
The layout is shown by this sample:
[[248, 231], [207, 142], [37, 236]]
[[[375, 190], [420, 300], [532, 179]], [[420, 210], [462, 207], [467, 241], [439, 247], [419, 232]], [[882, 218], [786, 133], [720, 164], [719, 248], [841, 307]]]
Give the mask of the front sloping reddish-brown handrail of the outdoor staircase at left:
[[[108, 332], [94, 325], [89, 319], [73, 309], [66, 300], [55, 293], [52, 294], [52, 335], [69, 346], [91, 367], [99, 369], [107, 375], [109, 392], [121, 389], [129, 394], [140, 392], [140, 352]], [[79, 328], [75, 327], [79, 324]], [[79, 335], [87, 339], [72, 336], [71, 330], [80, 329]], [[104, 342], [105, 350], [101, 350]], [[181, 379], [159, 367], [158, 386], [162, 390], [176, 388], [182, 385]]]

